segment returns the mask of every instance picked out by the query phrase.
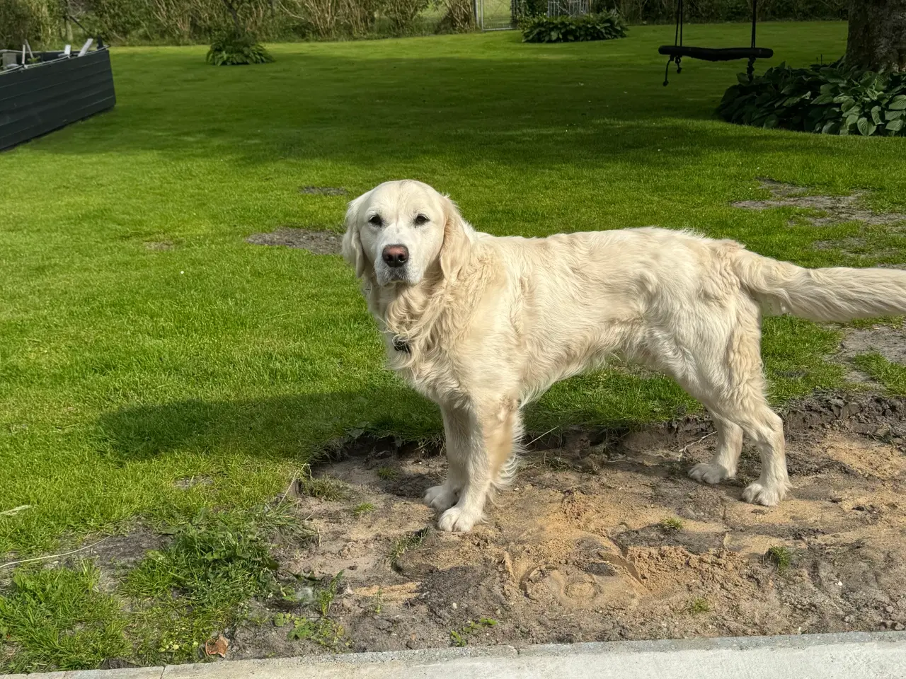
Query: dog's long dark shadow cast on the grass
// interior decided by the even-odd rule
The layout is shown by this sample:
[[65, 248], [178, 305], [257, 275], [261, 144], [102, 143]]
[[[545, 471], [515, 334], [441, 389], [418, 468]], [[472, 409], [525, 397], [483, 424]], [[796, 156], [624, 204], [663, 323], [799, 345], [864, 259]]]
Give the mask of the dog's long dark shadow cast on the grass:
[[436, 408], [414, 393], [387, 387], [386, 393], [188, 398], [126, 406], [98, 419], [97, 437], [103, 454], [120, 464], [184, 453], [307, 459], [331, 439], [362, 428], [409, 439], [436, 435], [441, 425]]

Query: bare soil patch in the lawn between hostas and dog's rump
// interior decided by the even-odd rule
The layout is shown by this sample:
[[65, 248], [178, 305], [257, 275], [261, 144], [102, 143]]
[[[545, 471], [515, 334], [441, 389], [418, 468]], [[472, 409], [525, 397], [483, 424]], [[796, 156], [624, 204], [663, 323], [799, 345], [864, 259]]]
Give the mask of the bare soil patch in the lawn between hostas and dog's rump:
[[741, 200], [733, 203], [734, 207], [746, 210], [767, 210], [772, 207], [801, 207], [814, 210], [822, 215], [805, 215], [800, 217], [814, 226], [840, 224], [841, 222], [863, 222], [868, 225], [888, 225], [906, 221], [906, 215], [896, 213], [876, 213], [861, 206], [860, 199], [865, 192], [856, 192], [850, 196], [814, 196], [808, 195], [806, 186], [783, 184], [774, 179], [759, 177], [761, 187], [771, 193], [766, 200]]

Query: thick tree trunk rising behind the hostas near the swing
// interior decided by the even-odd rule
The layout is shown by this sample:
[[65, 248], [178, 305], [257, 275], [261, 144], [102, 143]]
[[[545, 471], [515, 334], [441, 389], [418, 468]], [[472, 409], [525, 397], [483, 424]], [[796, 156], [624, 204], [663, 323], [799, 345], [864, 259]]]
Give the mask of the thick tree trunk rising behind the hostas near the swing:
[[872, 71], [906, 71], [906, 0], [850, 0], [846, 62]]

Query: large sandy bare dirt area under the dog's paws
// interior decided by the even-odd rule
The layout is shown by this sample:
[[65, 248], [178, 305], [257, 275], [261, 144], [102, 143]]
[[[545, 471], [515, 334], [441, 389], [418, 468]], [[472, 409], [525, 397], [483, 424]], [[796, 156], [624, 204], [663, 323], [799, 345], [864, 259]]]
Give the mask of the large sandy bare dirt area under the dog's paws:
[[[300, 497], [320, 537], [283, 545], [280, 559], [342, 571], [331, 617], [359, 651], [902, 629], [904, 414], [906, 401], [882, 397], [793, 406], [793, 489], [775, 508], [739, 501], [757, 476], [751, 450], [734, 481], [686, 476], [713, 445], [698, 417], [550, 435], [467, 534], [433, 531], [420, 502], [444, 472], [438, 451], [358, 439], [317, 470], [348, 498]], [[766, 557], [772, 547], [786, 548], [786, 568]], [[259, 624], [236, 630], [230, 655], [312, 652], [326, 651]]]

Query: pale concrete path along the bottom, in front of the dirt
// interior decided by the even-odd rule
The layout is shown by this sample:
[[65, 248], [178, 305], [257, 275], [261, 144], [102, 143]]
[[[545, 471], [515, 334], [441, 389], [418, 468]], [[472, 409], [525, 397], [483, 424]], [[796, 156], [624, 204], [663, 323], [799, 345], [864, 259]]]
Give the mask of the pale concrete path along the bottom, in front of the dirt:
[[[24, 677], [6, 674], [2, 679]], [[32, 679], [906, 679], [906, 633], [443, 648], [237, 660]]]

